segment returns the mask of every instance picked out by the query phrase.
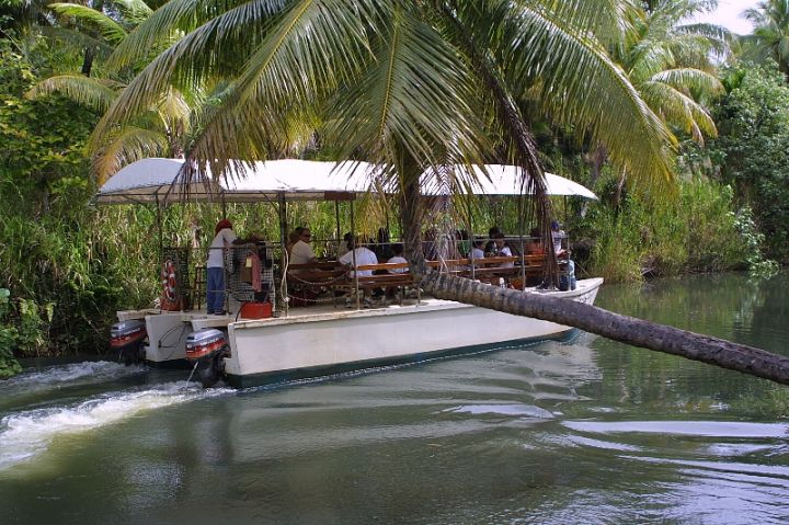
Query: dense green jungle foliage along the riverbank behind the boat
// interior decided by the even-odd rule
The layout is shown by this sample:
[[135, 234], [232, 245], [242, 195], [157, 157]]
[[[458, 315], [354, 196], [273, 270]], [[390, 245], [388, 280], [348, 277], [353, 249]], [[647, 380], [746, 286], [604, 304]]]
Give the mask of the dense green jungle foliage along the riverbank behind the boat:
[[[103, 352], [115, 311], [150, 305], [160, 287], [157, 210], [91, 204], [98, 180], [87, 142], [101, 109], [57, 91], [28, 95], [53, 75], [84, 72], [87, 66], [88, 75], [91, 68], [95, 73], [100, 54], [65, 45], [65, 33], [35, 31], [54, 20], [43, 5], [34, 12], [35, 4], [26, 4], [23, 18], [14, 2], [9, 5], [0, 11], [0, 377], [18, 372], [14, 356]], [[101, 34], [94, 30], [91, 37]], [[550, 119], [534, 119], [546, 169], [601, 196], [596, 203], [554, 203], [582, 275], [640, 281], [683, 272], [764, 272], [774, 269], [773, 261], [789, 260], [789, 87], [781, 71], [769, 61], [729, 60], [719, 73], [724, 91], [706, 99], [718, 136], [702, 145], [675, 126], [683, 141], [673, 195], [631, 189], [605, 156], [601, 162], [595, 145], [568, 138]], [[170, 153], [186, 144], [171, 140]], [[320, 147], [296, 155], [320, 156]], [[397, 236], [391, 203], [371, 198], [359, 206], [361, 229], [370, 238], [384, 226]], [[515, 232], [518, 209], [515, 199], [478, 201], [472, 231], [498, 225]], [[165, 208], [163, 242], [190, 246], [202, 258], [220, 216], [219, 206]], [[241, 236], [278, 238], [276, 216], [265, 205], [231, 206], [228, 216]], [[434, 220], [446, 227], [458, 218], [465, 228], [467, 218], [445, 206]], [[318, 239], [335, 238], [332, 205], [290, 206], [289, 224], [310, 225]], [[341, 231], [347, 228], [343, 222]]]

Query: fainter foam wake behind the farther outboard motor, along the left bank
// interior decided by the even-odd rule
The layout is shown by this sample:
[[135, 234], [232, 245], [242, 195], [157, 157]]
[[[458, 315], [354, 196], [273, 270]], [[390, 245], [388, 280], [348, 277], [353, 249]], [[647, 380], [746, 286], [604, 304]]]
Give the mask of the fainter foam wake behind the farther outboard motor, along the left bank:
[[68, 365], [47, 366], [0, 381], [0, 391], [20, 392], [60, 388], [72, 383], [101, 383], [119, 377], [140, 374], [145, 367], [125, 366], [110, 361], [83, 361]]

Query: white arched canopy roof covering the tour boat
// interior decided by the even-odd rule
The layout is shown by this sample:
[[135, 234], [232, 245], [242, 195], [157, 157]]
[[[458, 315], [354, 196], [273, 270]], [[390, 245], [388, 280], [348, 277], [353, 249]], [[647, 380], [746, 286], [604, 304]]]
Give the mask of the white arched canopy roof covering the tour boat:
[[[187, 192], [179, 182], [183, 159], [149, 158], [133, 162], [113, 175], [95, 196], [96, 204], [147, 204], [176, 201], [188, 193], [192, 202], [224, 201], [226, 203], [252, 203], [276, 199], [289, 201], [347, 199], [357, 193], [373, 190], [376, 179], [382, 174], [379, 166], [363, 161], [270, 160], [245, 164], [243, 172], [235, 176], [220, 176], [218, 184], [206, 187], [202, 182], [190, 184]], [[468, 180], [465, 166], [443, 167], [439, 173], [455, 171]], [[478, 183], [473, 193], [483, 195], [519, 195], [519, 169], [514, 166], [474, 166]], [[210, 173], [209, 173], [210, 174]], [[431, 175], [428, 170], [423, 178]], [[211, 178], [216, 180], [215, 178]], [[597, 196], [569, 179], [546, 173], [549, 195], [578, 195], [596, 199]], [[459, 189], [460, 190], [460, 189]], [[461, 190], [462, 191], [462, 190]], [[445, 191], [426, 189], [426, 194]]]

